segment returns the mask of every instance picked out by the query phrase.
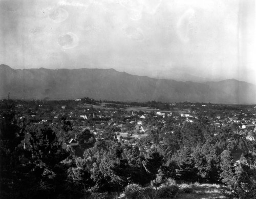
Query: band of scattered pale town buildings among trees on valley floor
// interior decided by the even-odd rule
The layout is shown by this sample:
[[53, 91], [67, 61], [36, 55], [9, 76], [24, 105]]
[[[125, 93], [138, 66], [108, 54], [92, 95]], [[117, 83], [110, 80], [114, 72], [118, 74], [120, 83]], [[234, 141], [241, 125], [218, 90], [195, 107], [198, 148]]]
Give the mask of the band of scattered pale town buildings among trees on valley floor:
[[[74, 101], [74, 102], [73, 102]], [[170, 104], [169, 110], [134, 110], [125, 108], [106, 108], [104, 103], [91, 98], [59, 102], [22, 102], [16, 104], [17, 119], [29, 120], [32, 123], [58, 124], [61, 120], [68, 121], [73, 128], [83, 131], [89, 129], [96, 138], [102, 137], [106, 131], [115, 133], [119, 142], [136, 144], [137, 140], [148, 136], [152, 130], [172, 132], [174, 126], [182, 126], [184, 122], [193, 123], [204, 117], [215, 127], [232, 126], [234, 133], [248, 134], [252, 139], [255, 129], [255, 108], [246, 106], [239, 110], [214, 109], [206, 104], [195, 108], [189, 103], [185, 108], [175, 108], [176, 103]], [[192, 107], [192, 108], [191, 108]], [[201, 108], [203, 107], [203, 108]], [[131, 109], [131, 107], [130, 107]], [[69, 144], [76, 145], [73, 138]]]

